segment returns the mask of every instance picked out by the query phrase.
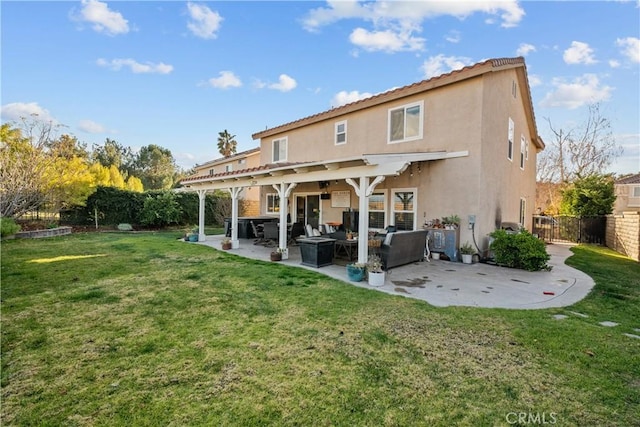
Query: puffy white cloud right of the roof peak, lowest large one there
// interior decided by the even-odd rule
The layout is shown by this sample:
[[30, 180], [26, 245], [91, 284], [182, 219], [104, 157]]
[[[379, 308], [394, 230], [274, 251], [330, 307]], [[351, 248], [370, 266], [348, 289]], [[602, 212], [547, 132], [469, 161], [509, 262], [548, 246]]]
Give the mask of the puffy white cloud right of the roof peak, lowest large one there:
[[611, 97], [611, 86], [602, 86], [595, 74], [584, 74], [572, 82], [554, 79], [555, 90], [540, 102], [542, 107], [561, 107], [573, 110], [583, 105], [606, 101]]

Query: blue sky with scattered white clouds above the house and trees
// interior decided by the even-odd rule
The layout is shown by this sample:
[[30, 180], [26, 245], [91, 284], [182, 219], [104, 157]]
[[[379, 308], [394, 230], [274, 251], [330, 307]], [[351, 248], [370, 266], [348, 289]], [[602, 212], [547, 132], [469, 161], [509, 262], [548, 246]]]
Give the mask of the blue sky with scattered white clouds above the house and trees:
[[253, 133], [488, 58], [524, 56], [538, 131], [600, 102], [640, 171], [637, 1], [2, 1], [2, 121], [190, 168]]

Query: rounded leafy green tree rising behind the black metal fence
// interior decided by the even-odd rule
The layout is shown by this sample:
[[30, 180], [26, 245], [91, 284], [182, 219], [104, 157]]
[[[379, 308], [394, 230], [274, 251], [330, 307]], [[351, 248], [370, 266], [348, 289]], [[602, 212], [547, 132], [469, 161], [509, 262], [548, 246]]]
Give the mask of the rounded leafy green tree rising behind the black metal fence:
[[576, 179], [562, 193], [560, 212], [564, 215], [596, 216], [613, 212], [616, 195], [610, 175], [590, 175]]

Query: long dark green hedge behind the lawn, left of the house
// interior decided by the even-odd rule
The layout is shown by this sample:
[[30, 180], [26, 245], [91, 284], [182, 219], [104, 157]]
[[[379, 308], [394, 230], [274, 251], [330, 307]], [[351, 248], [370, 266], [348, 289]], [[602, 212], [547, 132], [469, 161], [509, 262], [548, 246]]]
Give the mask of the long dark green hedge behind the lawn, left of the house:
[[[113, 187], [98, 187], [86, 206], [76, 206], [60, 213], [65, 225], [99, 225], [129, 223], [143, 226], [197, 225], [199, 198], [196, 193], [147, 191], [137, 193]], [[231, 216], [231, 199], [220, 192], [205, 198], [205, 225], [220, 226]]]

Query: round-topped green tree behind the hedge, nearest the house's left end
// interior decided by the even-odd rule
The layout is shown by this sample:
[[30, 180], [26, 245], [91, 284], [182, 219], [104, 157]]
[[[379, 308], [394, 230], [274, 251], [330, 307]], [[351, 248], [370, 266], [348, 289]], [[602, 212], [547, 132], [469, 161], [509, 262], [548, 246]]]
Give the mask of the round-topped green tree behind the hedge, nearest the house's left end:
[[134, 164], [134, 175], [145, 189], [168, 190], [173, 186], [177, 166], [170, 150], [155, 144], [142, 147]]

